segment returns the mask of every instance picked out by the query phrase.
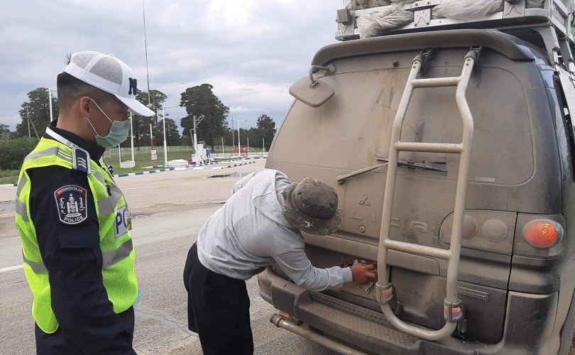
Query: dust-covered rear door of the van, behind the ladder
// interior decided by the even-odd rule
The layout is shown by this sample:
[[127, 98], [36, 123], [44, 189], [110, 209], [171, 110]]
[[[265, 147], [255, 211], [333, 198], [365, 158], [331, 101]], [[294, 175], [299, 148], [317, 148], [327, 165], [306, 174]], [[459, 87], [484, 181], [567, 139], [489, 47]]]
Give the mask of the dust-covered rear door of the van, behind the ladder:
[[[458, 76], [468, 51], [436, 48], [424, 77]], [[294, 102], [276, 136], [268, 168], [283, 170], [292, 180], [320, 178], [339, 194], [339, 231], [305, 235], [315, 266], [377, 260], [387, 168], [341, 184], [336, 179], [388, 158], [391, 125], [418, 53], [334, 58], [330, 64], [336, 72], [321, 77], [334, 88], [334, 97], [317, 108]], [[484, 48], [467, 94], [475, 133], [458, 277], [468, 326], [462, 323], [460, 330], [466, 339], [490, 344], [503, 336], [517, 212], [540, 211], [549, 203], [540, 199], [527, 205], [515, 198], [539, 183], [530, 102], [544, 89], [532, 58], [509, 57]], [[461, 130], [455, 88], [417, 89], [401, 141], [454, 143], [461, 141]], [[401, 153], [400, 160], [390, 239], [449, 249], [459, 155]], [[441, 328], [447, 261], [389, 251], [388, 267], [400, 319]], [[380, 310], [373, 288], [346, 285], [326, 293]]]

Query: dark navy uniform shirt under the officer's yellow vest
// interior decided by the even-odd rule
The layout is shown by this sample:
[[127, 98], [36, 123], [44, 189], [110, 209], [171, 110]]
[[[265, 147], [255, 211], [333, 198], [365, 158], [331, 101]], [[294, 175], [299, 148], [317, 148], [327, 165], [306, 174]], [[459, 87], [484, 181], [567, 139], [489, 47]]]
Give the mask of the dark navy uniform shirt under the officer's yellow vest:
[[[60, 136], [88, 151], [95, 162], [104, 153], [96, 143], [50, 125]], [[53, 139], [48, 134], [44, 138]], [[44, 334], [36, 327], [38, 354], [136, 354], [132, 349], [133, 308], [114, 313], [102, 280], [102, 251], [94, 197], [85, 173], [60, 166], [28, 170], [31, 219], [48, 269], [52, 309], [60, 329]], [[87, 191], [87, 216], [80, 224], [60, 221], [55, 192], [75, 185]], [[76, 349], [74, 349], [74, 347]], [[40, 349], [43, 347], [44, 349]], [[48, 350], [51, 349], [51, 350]]]

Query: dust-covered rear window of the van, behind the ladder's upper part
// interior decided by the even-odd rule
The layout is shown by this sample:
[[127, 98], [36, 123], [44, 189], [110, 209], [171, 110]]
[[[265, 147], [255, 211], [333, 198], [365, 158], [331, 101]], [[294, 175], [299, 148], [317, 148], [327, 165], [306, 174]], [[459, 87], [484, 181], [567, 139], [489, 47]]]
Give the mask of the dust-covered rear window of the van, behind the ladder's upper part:
[[[336, 62], [339, 74], [322, 79], [334, 87], [334, 97], [315, 109], [295, 102], [275, 143], [274, 160], [357, 170], [378, 163], [376, 157], [387, 157], [391, 126], [415, 54]], [[459, 50], [439, 53], [425, 77], [458, 76], [464, 55]], [[469, 84], [467, 97], [475, 123], [470, 182], [518, 185], [534, 170], [527, 99], [509, 62], [493, 53]], [[416, 89], [402, 141], [461, 143], [455, 93], [454, 87]], [[400, 175], [457, 178], [459, 155], [401, 153], [400, 159], [433, 163], [448, 171], [400, 169]]]

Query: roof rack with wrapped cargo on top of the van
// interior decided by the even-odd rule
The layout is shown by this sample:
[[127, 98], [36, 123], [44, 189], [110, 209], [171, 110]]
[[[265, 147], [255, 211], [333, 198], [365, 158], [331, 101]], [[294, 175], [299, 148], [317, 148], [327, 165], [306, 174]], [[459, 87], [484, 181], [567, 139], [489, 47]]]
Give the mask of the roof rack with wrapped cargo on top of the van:
[[575, 0], [344, 0], [337, 40], [457, 28], [489, 28], [546, 50], [575, 72]]

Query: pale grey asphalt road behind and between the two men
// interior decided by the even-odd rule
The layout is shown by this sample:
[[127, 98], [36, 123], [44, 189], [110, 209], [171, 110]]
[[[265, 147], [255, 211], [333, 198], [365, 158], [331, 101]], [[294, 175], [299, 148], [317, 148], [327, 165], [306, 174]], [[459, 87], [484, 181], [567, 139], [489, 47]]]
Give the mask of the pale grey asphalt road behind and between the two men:
[[[239, 177], [257, 163], [226, 170], [181, 170], [116, 179], [133, 215], [136, 272], [144, 295], [136, 310], [138, 354], [202, 354], [197, 335], [187, 330], [182, 271], [204, 221], [218, 209]], [[21, 269], [22, 256], [13, 202], [15, 188], [0, 190], [0, 354], [34, 354], [32, 297]], [[256, 354], [329, 354], [332, 351], [269, 322], [274, 309], [248, 280]]]

